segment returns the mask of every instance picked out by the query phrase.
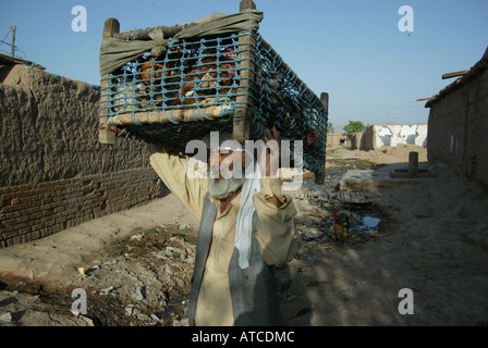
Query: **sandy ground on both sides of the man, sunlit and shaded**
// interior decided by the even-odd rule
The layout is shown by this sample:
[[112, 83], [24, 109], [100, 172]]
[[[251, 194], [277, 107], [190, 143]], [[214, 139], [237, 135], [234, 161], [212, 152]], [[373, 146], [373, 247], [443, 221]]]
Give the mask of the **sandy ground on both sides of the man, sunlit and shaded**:
[[[371, 162], [378, 171], [406, 167], [412, 150], [419, 152], [420, 167], [432, 165], [426, 149], [400, 146], [337, 149], [328, 153], [327, 169], [349, 165], [345, 159]], [[295, 200], [298, 252], [277, 272], [291, 281], [280, 294], [285, 325], [488, 324], [488, 195], [448, 169], [435, 169], [437, 178], [381, 186], [367, 192], [371, 201], [361, 207]], [[365, 210], [380, 216], [378, 226], [351, 232], [345, 243], [331, 239], [332, 211], [345, 213], [354, 227], [354, 216]], [[168, 194], [143, 207], [0, 249], [0, 325], [185, 325], [182, 308], [194, 239], [183, 236], [194, 237], [197, 225]], [[164, 247], [156, 248], [155, 238], [162, 235]], [[144, 245], [148, 251], [136, 263], [134, 250], [141, 245], [135, 243], [149, 237], [152, 241]], [[87, 289], [86, 315], [70, 312], [73, 288]], [[399, 293], [405, 288], [411, 293], [404, 298]], [[100, 312], [90, 315], [93, 303], [107, 318]], [[108, 312], [117, 315], [109, 319]]]

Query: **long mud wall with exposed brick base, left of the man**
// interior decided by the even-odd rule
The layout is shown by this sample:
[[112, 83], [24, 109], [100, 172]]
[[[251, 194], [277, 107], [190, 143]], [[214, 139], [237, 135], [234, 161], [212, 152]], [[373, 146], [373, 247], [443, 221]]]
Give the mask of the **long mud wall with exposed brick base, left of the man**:
[[0, 248], [159, 197], [147, 145], [99, 144], [99, 95], [39, 69], [0, 66]]

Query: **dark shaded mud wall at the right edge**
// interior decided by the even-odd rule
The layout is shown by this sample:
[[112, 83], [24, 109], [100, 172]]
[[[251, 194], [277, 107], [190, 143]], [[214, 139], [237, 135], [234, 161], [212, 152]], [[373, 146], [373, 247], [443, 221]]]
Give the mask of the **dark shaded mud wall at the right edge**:
[[488, 189], [488, 70], [428, 104], [429, 161], [446, 163]]

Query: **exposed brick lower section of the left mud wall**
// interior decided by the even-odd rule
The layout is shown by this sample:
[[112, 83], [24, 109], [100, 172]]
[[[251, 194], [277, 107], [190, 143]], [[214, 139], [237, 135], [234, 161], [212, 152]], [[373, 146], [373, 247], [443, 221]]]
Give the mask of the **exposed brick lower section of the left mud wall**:
[[35, 240], [159, 196], [151, 169], [0, 188], [0, 247]]

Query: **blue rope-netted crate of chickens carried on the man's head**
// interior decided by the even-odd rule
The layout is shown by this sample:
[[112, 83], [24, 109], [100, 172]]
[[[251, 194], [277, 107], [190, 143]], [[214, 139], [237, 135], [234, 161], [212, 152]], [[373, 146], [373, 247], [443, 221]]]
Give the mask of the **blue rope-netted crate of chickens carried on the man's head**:
[[[255, 45], [243, 45], [246, 36]], [[253, 59], [243, 54], [248, 51]], [[245, 70], [252, 78], [243, 77]], [[188, 140], [231, 130], [235, 119], [246, 115], [251, 139], [276, 126], [282, 139], [304, 141], [304, 169], [324, 171], [327, 111], [255, 32], [170, 38], [162, 57], [148, 52], [106, 79], [100, 116], [126, 137], [182, 151]]]

